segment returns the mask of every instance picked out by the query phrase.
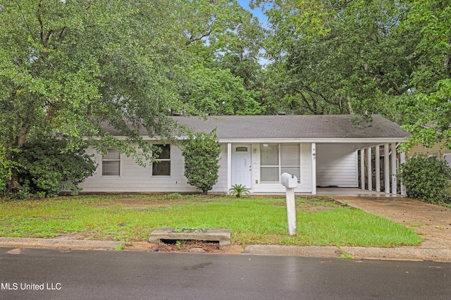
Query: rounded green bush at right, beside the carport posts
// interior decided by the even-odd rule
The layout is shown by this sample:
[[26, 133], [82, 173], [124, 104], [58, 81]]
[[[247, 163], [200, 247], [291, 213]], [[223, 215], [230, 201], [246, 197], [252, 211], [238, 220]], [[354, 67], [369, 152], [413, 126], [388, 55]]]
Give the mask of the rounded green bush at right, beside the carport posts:
[[407, 188], [407, 195], [431, 203], [443, 203], [449, 199], [451, 168], [437, 156], [417, 154], [401, 164], [398, 175]]

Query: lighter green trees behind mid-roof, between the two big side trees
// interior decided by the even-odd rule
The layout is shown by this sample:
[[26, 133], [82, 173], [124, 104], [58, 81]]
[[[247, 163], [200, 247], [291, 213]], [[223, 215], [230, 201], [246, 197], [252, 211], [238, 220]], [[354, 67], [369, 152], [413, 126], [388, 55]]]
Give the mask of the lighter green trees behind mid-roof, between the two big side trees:
[[190, 2], [180, 13], [191, 57], [189, 80], [180, 91], [185, 103], [210, 115], [261, 113], [258, 60], [263, 34], [257, 19], [237, 1]]

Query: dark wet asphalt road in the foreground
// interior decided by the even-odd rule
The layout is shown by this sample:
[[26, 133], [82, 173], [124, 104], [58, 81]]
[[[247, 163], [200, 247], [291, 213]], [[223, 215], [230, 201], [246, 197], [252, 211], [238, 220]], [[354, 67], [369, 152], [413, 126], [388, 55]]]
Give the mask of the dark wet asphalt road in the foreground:
[[451, 263], [0, 248], [0, 299], [450, 299]]

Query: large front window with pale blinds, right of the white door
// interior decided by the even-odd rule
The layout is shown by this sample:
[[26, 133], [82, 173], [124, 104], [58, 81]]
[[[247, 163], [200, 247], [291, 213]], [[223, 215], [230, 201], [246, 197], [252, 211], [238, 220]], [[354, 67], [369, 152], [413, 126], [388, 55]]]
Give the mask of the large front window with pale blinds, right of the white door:
[[290, 173], [300, 180], [299, 144], [260, 144], [260, 182], [279, 182]]

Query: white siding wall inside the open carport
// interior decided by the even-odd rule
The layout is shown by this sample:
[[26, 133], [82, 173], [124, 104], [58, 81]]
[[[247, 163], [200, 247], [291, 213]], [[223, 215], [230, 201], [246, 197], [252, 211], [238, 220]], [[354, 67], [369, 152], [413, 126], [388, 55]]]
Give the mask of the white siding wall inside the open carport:
[[354, 144], [316, 144], [316, 185], [359, 187]]

